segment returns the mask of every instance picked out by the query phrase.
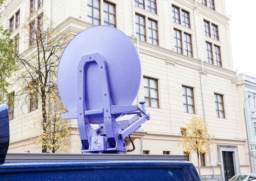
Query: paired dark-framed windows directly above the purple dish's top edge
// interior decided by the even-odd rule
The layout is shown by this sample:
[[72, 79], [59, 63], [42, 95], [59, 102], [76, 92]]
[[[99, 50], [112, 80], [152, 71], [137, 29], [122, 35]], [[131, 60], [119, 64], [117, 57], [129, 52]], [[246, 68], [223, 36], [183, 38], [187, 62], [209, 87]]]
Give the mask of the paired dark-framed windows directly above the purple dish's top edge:
[[[100, 8], [101, 3], [103, 3], [103, 9]], [[116, 27], [115, 4], [103, 0], [87, 0], [87, 11], [89, 23]]]

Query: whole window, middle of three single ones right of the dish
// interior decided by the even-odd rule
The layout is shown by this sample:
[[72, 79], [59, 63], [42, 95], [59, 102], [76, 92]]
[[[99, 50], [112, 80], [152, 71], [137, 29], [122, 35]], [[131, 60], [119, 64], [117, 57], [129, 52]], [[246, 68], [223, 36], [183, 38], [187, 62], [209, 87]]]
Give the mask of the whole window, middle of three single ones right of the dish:
[[195, 113], [193, 88], [182, 86], [184, 112]]

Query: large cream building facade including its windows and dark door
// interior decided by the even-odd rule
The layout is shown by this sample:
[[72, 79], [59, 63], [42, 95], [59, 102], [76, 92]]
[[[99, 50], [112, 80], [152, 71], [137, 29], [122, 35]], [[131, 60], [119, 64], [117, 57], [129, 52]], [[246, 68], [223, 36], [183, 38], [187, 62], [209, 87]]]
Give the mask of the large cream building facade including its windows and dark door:
[[[134, 42], [142, 68], [134, 103], [145, 100], [151, 118], [132, 134], [136, 149], [129, 154], [183, 154], [177, 146], [181, 128], [197, 113], [214, 135], [213, 152], [200, 156], [202, 177], [225, 181], [249, 172], [224, 0], [8, 0], [1, 22], [13, 37], [20, 37], [19, 54], [29, 49], [22, 25], [29, 13], [39, 11], [54, 22], [52, 26], [71, 36], [107, 25]], [[9, 91], [15, 94], [15, 89], [13, 85]], [[28, 125], [38, 108], [29, 111], [22, 105], [21, 113], [15, 111], [19, 106], [14, 99], [9, 152], [40, 152], [27, 145], [31, 142]], [[74, 141], [67, 152], [79, 152], [80, 145]], [[197, 166], [196, 154], [186, 159]]]

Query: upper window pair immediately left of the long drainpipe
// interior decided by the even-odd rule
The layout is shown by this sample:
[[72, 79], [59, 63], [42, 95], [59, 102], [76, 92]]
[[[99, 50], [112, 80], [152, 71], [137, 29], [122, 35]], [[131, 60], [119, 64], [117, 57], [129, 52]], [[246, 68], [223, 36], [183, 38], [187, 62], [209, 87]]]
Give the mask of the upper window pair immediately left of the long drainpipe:
[[172, 11], [173, 11], [173, 22], [181, 24], [180, 22], [180, 11], [181, 11], [182, 25], [184, 27], [190, 28], [189, 12], [183, 9], [180, 9], [179, 7], [176, 7], [174, 5], [172, 5]]

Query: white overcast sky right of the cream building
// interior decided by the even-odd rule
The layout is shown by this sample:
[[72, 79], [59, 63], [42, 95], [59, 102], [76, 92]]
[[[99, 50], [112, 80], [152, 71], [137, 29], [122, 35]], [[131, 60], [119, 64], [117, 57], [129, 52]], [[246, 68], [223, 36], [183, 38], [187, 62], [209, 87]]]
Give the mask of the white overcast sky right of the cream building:
[[256, 78], [256, 0], [225, 0], [234, 70]]

